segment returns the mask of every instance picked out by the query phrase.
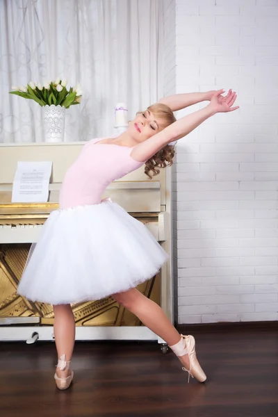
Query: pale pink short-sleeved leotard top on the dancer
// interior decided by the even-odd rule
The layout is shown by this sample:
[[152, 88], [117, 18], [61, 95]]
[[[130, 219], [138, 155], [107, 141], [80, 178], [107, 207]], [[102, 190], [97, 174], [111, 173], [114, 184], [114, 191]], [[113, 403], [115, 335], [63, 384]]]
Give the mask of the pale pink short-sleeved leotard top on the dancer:
[[111, 182], [144, 165], [131, 158], [133, 148], [99, 141], [93, 139], [86, 143], [67, 170], [60, 190], [60, 208], [100, 203]]

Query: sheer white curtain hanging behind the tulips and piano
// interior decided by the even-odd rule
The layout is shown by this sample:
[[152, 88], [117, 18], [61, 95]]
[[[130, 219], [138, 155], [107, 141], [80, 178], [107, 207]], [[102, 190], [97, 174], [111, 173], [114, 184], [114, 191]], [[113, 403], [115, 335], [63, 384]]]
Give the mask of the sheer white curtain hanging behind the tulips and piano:
[[163, 1], [0, 0], [0, 142], [42, 142], [42, 108], [12, 85], [63, 76], [81, 83], [65, 140], [113, 133], [114, 106], [129, 118], [163, 95]]

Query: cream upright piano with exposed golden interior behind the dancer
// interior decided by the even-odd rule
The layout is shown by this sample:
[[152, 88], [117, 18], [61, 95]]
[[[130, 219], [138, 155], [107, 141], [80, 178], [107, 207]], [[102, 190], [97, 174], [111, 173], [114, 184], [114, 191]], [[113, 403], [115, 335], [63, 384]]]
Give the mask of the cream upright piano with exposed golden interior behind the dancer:
[[[33, 303], [17, 295], [17, 284], [31, 243], [36, 242], [58, 195], [65, 171], [81, 151], [83, 142], [57, 144], [0, 144], [0, 341], [52, 340], [54, 315], [51, 306]], [[17, 161], [52, 161], [47, 203], [11, 202]], [[146, 224], [172, 259], [171, 170], [150, 181], [143, 167], [108, 186], [111, 197]], [[78, 254], [76, 254], [78, 256]], [[173, 320], [172, 263], [138, 289], [158, 302]], [[125, 311], [112, 297], [73, 306], [77, 340], [161, 339]], [[32, 339], [33, 338], [33, 339]]]

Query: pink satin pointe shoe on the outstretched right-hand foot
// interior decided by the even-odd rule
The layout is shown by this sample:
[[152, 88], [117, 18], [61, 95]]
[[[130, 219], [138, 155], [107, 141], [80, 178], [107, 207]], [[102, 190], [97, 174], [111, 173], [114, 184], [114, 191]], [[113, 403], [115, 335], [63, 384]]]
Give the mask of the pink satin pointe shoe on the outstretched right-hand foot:
[[182, 357], [183, 355], [188, 354], [190, 368], [189, 370], [184, 366], [182, 368], [182, 370], [188, 372], [188, 382], [190, 377], [196, 378], [199, 382], [206, 381], [206, 374], [204, 373], [204, 370], [202, 370], [196, 356], [195, 338], [193, 336], [183, 336], [183, 334], [181, 334], [181, 340], [176, 343], [176, 345], [170, 346], [170, 348], [174, 354], [177, 355], [177, 357]]

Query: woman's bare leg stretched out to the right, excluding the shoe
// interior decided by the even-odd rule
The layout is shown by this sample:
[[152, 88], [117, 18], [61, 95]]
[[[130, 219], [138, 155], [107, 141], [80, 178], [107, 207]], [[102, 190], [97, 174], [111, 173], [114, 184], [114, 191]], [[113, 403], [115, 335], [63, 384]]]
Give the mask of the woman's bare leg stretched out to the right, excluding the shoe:
[[[156, 302], [145, 297], [136, 288], [112, 296], [117, 302], [120, 302], [126, 309], [131, 311], [131, 313], [135, 314], [152, 332], [163, 338], [169, 346], [176, 345], [181, 341], [181, 335], [174, 328], [167, 316], [165, 316], [161, 307]], [[179, 357], [179, 360], [183, 363], [183, 366], [189, 369], [190, 362], [188, 354]]]

